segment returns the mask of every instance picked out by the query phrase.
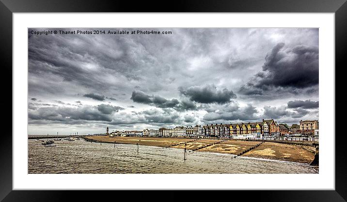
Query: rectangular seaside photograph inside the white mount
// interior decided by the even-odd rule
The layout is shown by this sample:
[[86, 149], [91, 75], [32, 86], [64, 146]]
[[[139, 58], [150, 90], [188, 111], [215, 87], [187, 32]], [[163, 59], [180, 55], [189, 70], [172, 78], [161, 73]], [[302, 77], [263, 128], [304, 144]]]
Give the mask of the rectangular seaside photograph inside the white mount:
[[27, 30], [28, 174], [319, 174], [319, 28]]

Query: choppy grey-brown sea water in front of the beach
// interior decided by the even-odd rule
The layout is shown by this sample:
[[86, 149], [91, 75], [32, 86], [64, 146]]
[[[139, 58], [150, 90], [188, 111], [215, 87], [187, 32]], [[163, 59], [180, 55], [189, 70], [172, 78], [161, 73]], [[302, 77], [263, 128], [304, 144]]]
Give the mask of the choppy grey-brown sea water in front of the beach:
[[[47, 140], [47, 139], [44, 139]], [[44, 147], [28, 140], [28, 173], [318, 173], [307, 164], [234, 158], [230, 154], [187, 152], [174, 148], [55, 141]]]

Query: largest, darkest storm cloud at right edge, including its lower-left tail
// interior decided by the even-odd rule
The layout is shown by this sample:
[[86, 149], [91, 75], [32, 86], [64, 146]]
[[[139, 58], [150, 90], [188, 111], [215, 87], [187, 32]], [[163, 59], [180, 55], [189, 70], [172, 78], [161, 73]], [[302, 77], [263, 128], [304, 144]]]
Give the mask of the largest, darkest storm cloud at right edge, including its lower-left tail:
[[296, 45], [292, 48], [278, 43], [268, 52], [262, 72], [241, 86], [239, 92], [245, 95], [262, 95], [269, 91], [284, 90], [297, 93], [318, 84], [318, 47]]

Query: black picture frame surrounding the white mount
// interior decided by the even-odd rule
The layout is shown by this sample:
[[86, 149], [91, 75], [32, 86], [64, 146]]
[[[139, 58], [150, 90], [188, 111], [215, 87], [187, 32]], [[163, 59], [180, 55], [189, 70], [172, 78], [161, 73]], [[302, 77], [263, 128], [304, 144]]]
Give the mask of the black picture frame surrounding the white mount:
[[[336, 70], [343, 69], [347, 52], [347, 3], [346, 0], [176, 0], [164, 1], [120, 1], [120, 0], [0, 0], [0, 61], [2, 78], [0, 80], [3, 97], [3, 125], [0, 140], [0, 201], [72, 201], [78, 197], [82, 200], [99, 200], [101, 196], [111, 199], [119, 192], [109, 191], [96, 193], [95, 191], [53, 191], [12, 190], [12, 14], [35, 12], [285, 12], [285, 13], [334, 13], [335, 14], [335, 75]], [[23, 45], [25, 47], [26, 45]], [[334, 70], [334, 69], [331, 69]], [[339, 86], [335, 80], [336, 91]], [[335, 98], [336, 99], [336, 98]], [[10, 108], [9, 106], [12, 106]], [[336, 102], [335, 108], [341, 109], [342, 104]], [[336, 118], [335, 118], [336, 119]], [[337, 119], [336, 119], [337, 120]], [[337, 121], [331, 127], [337, 127]], [[335, 130], [332, 134], [335, 135]], [[257, 190], [233, 191], [232, 195], [242, 196], [243, 201], [336, 201], [347, 200], [346, 150], [343, 136], [335, 135], [335, 190]], [[310, 182], [298, 182], [307, 183]], [[63, 187], [62, 187], [63, 188]], [[191, 192], [189, 195], [198, 196]], [[126, 193], [127, 195], [129, 193]], [[143, 197], [152, 196], [153, 191], [142, 193]], [[157, 193], [156, 193], [157, 194]], [[165, 193], [166, 198], [174, 198], [175, 193]], [[229, 194], [229, 193], [228, 193]], [[206, 194], [205, 194], [206, 195]], [[208, 193], [207, 193], [208, 195]], [[68, 196], [68, 197], [67, 197]], [[137, 197], [137, 195], [133, 195]], [[213, 195], [218, 198], [218, 195]], [[217, 199], [215, 198], [215, 199]]]

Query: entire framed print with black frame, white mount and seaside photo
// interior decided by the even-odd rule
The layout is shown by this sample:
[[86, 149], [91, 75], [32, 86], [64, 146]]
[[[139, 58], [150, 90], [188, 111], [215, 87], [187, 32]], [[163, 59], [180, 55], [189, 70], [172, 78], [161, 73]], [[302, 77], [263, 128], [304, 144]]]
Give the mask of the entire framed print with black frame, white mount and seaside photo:
[[13, 127], [0, 200], [258, 190], [270, 201], [344, 201], [333, 125], [346, 3], [239, 3], [183, 3], [191, 13], [1, 4]]

